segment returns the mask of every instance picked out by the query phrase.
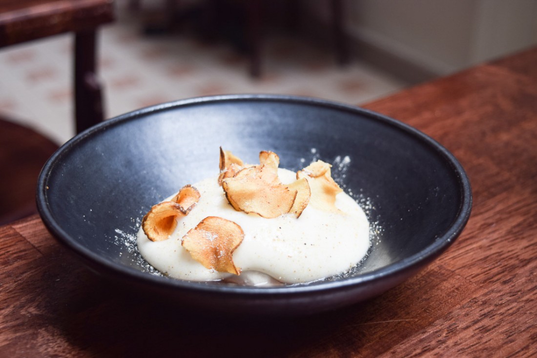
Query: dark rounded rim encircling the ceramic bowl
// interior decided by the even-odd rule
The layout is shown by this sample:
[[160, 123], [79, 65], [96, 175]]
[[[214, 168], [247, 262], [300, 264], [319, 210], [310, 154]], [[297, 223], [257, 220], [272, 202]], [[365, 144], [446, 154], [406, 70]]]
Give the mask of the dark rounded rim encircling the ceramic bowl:
[[[441, 157], [443, 157], [446, 162], [451, 165], [452, 169], [456, 173], [456, 176], [459, 180], [459, 185], [462, 188], [462, 204], [459, 208], [459, 213], [456, 216], [456, 219], [451, 228], [442, 236], [439, 236], [434, 240], [434, 242], [427, 246], [424, 250], [400, 261], [395, 262], [394, 264], [376, 269], [375, 271], [361, 274], [353, 277], [346, 277], [340, 280], [334, 281], [323, 281], [320, 284], [299, 284], [293, 286], [285, 287], [247, 287], [247, 286], [230, 286], [230, 285], [220, 285], [220, 284], [204, 284], [202, 282], [195, 281], [184, 281], [184, 280], [175, 280], [168, 279], [166, 277], [150, 275], [145, 272], [136, 271], [135, 269], [122, 266], [120, 264], [115, 264], [106, 259], [101, 258], [98, 254], [91, 252], [86, 249], [83, 245], [78, 244], [76, 240], [70, 238], [67, 232], [63, 231], [60, 223], [57, 223], [54, 220], [52, 212], [48, 208], [47, 204], [47, 180], [50, 174], [50, 171], [54, 169], [54, 166], [59, 163], [61, 158], [66, 155], [72, 148], [74, 148], [77, 143], [86, 140], [86, 138], [96, 135], [100, 131], [106, 130], [108, 127], [119, 125], [122, 122], [133, 120], [139, 118], [142, 115], [148, 113], [157, 113], [164, 111], [165, 109], [173, 107], [183, 107], [199, 104], [208, 104], [221, 101], [274, 101], [274, 102], [285, 102], [285, 103], [298, 103], [303, 105], [313, 105], [313, 106], [322, 106], [337, 109], [339, 111], [347, 111], [352, 113], [358, 113], [360, 115], [368, 116], [374, 120], [384, 122], [390, 126], [394, 126], [400, 130], [405, 131], [407, 134], [416, 137], [418, 140], [429, 145], [429, 147], [436, 151]], [[181, 99], [176, 101], [171, 101], [168, 103], [158, 104], [154, 106], [149, 106], [136, 111], [128, 112], [119, 116], [116, 116], [110, 120], [99, 123], [96, 126], [93, 126], [89, 129], [86, 129], [82, 133], [79, 133], [75, 137], [71, 138], [68, 142], [62, 145], [47, 161], [38, 178], [37, 186], [37, 207], [39, 215], [46, 228], [52, 233], [52, 235], [63, 245], [67, 246], [72, 252], [76, 253], [79, 257], [84, 259], [87, 263], [91, 263], [93, 267], [97, 267], [100, 272], [106, 272], [109, 275], [115, 276], [118, 278], [118, 275], [126, 278], [128, 280], [136, 280], [142, 284], [157, 284], [164, 289], [180, 289], [180, 290], [192, 290], [192, 291], [206, 291], [211, 293], [220, 293], [227, 295], [250, 295], [259, 297], [265, 295], [303, 295], [308, 293], [315, 293], [318, 291], [331, 291], [337, 289], [345, 289], [350, 287], [355, 287], [358, 285], [365, 285], [371, 283], [375, 280], [388, 279], [389, 277], [395, 276], [404, 271], [413, 271], [421, 266], [425, 266], [427, 263], [432, 261], [434, 258], [438, 257], [442, 252], [444, 252], [447, 247], [449, 247], [454, 240], [460, 235], [462, 230], [465, 228], [466, 223], [468, 222], [471, 207], [472, 207], [472, 194], [470, 181], [468, 176], [458, 162], [458, 160], [442, 145], [437, 141], [433, 140], [431, 137], [422, 133], [416, 128], [413, 128], [409, 125], [406, 125], [403, 122], [390, 118], [386, 115], [370, 111], [369, 109], [346, 105], [342, 103], [337, 103], [334, 101], [311, 98], [311, 97], [299, 97], [299, 96], [286, 96], [278, 94], [223, 94], [218, 96], [207, 96], [207, 97], [195, 97], [188, 99]]]

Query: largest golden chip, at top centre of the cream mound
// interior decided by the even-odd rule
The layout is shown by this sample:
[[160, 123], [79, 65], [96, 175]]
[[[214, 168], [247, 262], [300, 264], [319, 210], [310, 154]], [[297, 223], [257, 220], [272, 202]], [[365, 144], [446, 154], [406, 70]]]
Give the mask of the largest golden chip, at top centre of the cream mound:
[[265, 218], [289, 213], [297, 191], [279, 182], [278, 173], [274, 172], [272, 165], [248, 167], [222, 181], [226, 198], [235, 210]]

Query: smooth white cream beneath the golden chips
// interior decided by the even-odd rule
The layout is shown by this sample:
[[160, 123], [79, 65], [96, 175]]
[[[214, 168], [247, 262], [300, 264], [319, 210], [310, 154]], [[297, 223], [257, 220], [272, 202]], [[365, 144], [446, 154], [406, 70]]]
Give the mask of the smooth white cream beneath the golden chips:
[[[286, 169], [278, 169], [278, 176], [284, 184], [296, 180], [296, 174]], [[242, 269], [241, 276], [253, 271], [285, 283], [315, 281], [348, 271], [364, 258], [369, 248], [366, 215], [345, 193], [336, 198], [336, 206], [344, 214], [308, 206], [299, 218], [287, 214], [267, 219], [231, 207], [216, 177], [192, 186], [201, 197], [187, 216], [178, 219], [168, 240], [152, 242], [142, 229], [138, 232], [137, 243], [143, 258], [171, 277], [210, 281], [234, 276], [205, 268], [181, 245], [188, 230], [207, 216], [234, 221], [244, 231], [244, 240], [233, 254], [235, 265]], [[246, 281], [263, 284], [266, 278], [250, 275]]]

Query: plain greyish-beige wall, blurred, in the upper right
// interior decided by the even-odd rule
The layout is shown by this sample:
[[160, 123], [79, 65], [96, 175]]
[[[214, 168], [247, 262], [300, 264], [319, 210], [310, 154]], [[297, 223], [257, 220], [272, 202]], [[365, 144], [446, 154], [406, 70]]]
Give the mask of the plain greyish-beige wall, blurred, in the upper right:
[[[328, 21], [327, 1], [303, 3]], [[537, 44], [537, 0], [346, 0], [344, 4], [351, 38], [431, 74], [445, 75]]]

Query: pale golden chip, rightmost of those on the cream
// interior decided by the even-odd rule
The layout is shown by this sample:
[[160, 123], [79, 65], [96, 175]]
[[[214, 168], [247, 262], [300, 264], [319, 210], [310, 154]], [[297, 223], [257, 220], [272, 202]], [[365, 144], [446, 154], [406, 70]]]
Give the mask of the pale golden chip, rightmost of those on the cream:
[[317, 160], [303, 170], [296, 172], [296, 178], [306, 178], [311, 190], [309, 200], [311, 206], [321, 210], [339, 211], [336, 208], [336, 195], [342, 192], [342, 188], [332, 179], [331, 165]]

